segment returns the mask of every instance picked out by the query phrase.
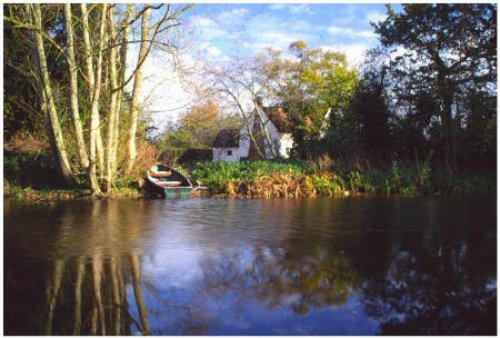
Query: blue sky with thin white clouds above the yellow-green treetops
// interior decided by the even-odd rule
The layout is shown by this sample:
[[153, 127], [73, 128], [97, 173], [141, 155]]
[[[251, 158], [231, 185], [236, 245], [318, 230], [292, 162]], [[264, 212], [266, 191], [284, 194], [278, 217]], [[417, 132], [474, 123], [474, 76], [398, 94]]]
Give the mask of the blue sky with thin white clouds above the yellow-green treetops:
[[[393, 5], [398, 9], [397, 5]], [[295, 40], [343, 51], [359, 62], [378, 44], [370, 21], [385, 17], [383, 4], [198, 4], [188, 27], [209, 56], [250, 56], [265, 47], [286, 48]]]

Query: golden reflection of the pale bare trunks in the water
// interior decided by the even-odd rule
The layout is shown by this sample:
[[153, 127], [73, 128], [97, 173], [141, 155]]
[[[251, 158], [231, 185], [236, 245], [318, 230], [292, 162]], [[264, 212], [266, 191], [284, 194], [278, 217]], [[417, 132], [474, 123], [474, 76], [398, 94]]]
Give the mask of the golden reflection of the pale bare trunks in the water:
[[[17, 317], [26, 313], [26, 319], [37, 319], [26, 325], [24, 318], [11, 318], [12, 321], [7, 321], [6, 333], [120, 335], [130, 334], [132, 327], [136, 327], [148, 334], [139, 260], [133, 249], [144, 228], [144, 205], [136, 202], [133, 206], [94, 202], [79, 205], [82, 210], [65, 206], [66, 212], [61, 214], [51, 210], [55, 213], [51, 219], [59, 222], [56, 227], [51, 226], [55, 233], [33, 242], [41, 243], [36, 252], [42, 257], [50, 257], [48, 265], [38, 262], [41, 267], [33, 265], [32, 270], [19, 272], [15, 258], [6, 259], [6, 274], [18, 275], [12, 278], [13, 281], [22, 283], [23, 279], [28, 279], [31, 288], [43, 285], [45, 289], [44, 294], [33, 292], [31, 308], [9, 311]], [[127, 284], [133, 289], [138, 318], [133, 318], [127, 303]], [[27, 285], [20, 288], [29, 289]], [[9, 285], [11, 290], [15, 290], [13, 285]], [[23, 304], [28, 302], [22, 301]], [[15, 304], [16, 300], [6, 299], [7, 306], [15, 307]]]

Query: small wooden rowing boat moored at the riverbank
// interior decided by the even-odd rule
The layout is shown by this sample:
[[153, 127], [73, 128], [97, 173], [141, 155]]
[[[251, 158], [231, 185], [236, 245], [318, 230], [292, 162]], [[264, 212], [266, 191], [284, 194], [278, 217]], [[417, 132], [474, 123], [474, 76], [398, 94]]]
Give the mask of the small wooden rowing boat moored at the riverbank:
[[146, 190], [153, 196], [189, 197], [193, 189], [193, 184], [186, 176], [167, 165], [155, 164], [147, 172]]

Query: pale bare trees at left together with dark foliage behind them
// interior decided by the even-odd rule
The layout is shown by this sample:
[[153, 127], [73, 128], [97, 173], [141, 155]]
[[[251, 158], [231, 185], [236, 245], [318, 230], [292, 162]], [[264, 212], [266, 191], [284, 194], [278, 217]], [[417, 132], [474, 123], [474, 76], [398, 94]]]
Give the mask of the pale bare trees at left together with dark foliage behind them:
[[[38, 110], [44, 112], [54, 159], [67, 183], [72, 182], [72, 174], [86, 172], [93, 195], [102, 194], [102, 183], [106, 183], [107, 192], [111, 192], [117, 177], [117, 153], [128, 152], [126, 147], [118, 149], [120, 124], [127, 124], [120, 120], [121, 112], [132, 111], [130, 124], [122, 127], [126, 132], [121, 134], [125, 139], [130, 126], [135, 130], [131, 133], [131, 142], [135, 144], [140, 118], [141, 69], [153, 46], [170, 46], [168, 41], [161, 41], [159, 34], [178, 26], [177, 17], [190, 7], [179, 6], [178, 10], [173, 10], [171, 5], [146, 5], [132, 17], [133, 7], [130, 5], [93, 5], [87, 10], [87, 6], [81, 4], [79, 11], [69, 4], [6, 6], [9, 39], [17, 36], [32, 41], [28, 48], [18, 49], [22, 57], [10, 50], [8, 53], [9, 60], [15, 61], [9, 63], [9, 69], [22, 70], [23, 86], [39, 97], [39, 103], [28, 104], [33, 113], [25, 119], [35, 120], [42, 116]], [[152, 10], [161, 15], [149, 27], [148, 15]], [[24, 14], [28, 14], [28, 20], [23, 18]], [[31, 19], [33, 14], [34, 20]], [[144, 32], [139, 41], [131, 41], [129, 32], [138, 21], [142, 21]], [[141, 43], [143, 53], [137, 67], [130, 69], [131, 74], [126, 78], [129, 42]], [[164, 51], [171, 52], [173, 48], [170, 46]], [[14, 75], [15, 72], [10, 76]], [[131, 81], [135, 82], [132, 100], [124, 92]], [[9, 102], [14, 103], [16, 96], [31, 99], [20, 91], [21, 87], [9, 87]], [[130, 101], [135, 110], [130, 109]], [[10, 104], [9, 110], [13, 106]], [[67, 116], [64, 114], [66, 106], [70, 107]], [[9, 116], [14, 117], [13, 114]], [[87, 121], [88, 129], [83, 126]], [[13, 125], [9, 126], [13, 132], [20, 128]], [[34, 125], [29, 128], [34, 128]]]

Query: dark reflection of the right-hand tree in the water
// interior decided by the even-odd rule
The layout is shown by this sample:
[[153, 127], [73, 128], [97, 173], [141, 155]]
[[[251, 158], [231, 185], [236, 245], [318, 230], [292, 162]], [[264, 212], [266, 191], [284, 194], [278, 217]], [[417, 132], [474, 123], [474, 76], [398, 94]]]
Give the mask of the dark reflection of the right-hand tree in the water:
[[[359, 285], [365, 311], [382, 323], [382, 334], [495, 333], [494, 213], [486, 210], [474, 223], [464, 211], [454, 212], [436, 217], [428, 210], [420, 220], [428, 224], [423, 230], [402, 231], [390, 241], [362, 241], [373, 249], [372, 259], [386, 262]], [[384, 242], [390, 245], [380, 245]], [[357, 271], [366, 264], [363, 258], [356, 260]]]

